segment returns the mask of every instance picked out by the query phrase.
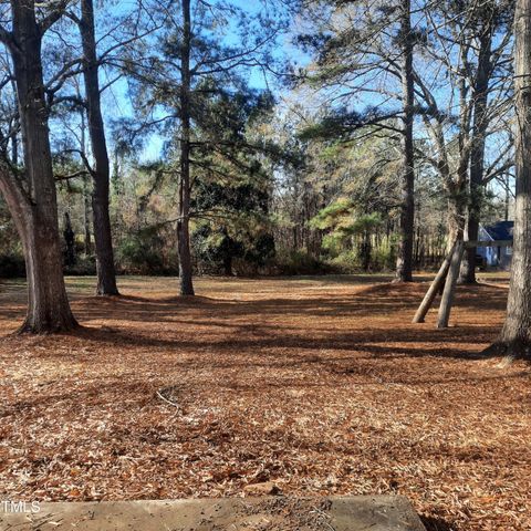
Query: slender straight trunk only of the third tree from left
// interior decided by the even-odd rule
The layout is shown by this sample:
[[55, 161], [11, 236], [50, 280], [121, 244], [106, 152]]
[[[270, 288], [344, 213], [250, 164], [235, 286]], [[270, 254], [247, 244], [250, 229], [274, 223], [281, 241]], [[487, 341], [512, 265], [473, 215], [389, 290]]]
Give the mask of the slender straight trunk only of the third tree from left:
[[179, 254], [180, 294], [194, 295], [190, 254], [190, 0], [183, 0], [183, 46], [180, 52], [180, 180], [177, 248]]

